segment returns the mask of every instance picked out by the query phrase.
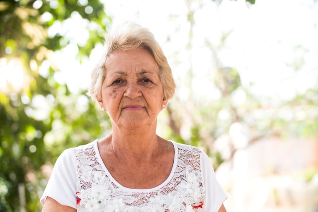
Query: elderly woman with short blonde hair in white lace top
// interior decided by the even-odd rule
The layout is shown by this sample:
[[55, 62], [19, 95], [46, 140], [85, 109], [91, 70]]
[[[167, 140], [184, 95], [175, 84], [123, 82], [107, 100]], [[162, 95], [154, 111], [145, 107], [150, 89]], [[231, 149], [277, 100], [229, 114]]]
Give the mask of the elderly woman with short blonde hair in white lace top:
[[207, 155], [156, 135], [175, 83], [153, 35], [126, 23], [105, 40], [88, 95], [109, 115], [112, 132], [60, 155], [42, 211], [226, 211]]

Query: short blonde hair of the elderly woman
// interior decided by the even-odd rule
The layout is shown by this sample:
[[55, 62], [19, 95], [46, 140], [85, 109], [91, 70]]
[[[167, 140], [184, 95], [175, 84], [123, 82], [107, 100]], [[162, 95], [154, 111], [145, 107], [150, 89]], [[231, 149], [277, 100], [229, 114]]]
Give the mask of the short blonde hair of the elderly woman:
[[106, 59], [114, 51], [129, 51], [138, 48], [147, 49], [157, 63], [163, 85], [164, 98], [170, 100], [175, 92], [175, 82], [164, 52], [153, 34], [136, 23], [126, 22], [106, 34], [104, 54], [100, 63], [91, 72], [91, 83], [87, 95], [97, 102], [102, 100], [102, 84], [106, 77]]

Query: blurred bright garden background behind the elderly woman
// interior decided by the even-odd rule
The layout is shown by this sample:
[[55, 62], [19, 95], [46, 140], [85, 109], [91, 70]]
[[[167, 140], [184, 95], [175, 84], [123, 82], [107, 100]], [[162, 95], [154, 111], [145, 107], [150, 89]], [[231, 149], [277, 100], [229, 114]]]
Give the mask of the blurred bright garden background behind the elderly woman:
[[315, 0], [0, 1], [0, 211], [41, 211], [58, 155], [110, 132], [85, 93], [124, 21], [176, 80], [157, 133], [205, 150], [229, 212], [318, 211]]

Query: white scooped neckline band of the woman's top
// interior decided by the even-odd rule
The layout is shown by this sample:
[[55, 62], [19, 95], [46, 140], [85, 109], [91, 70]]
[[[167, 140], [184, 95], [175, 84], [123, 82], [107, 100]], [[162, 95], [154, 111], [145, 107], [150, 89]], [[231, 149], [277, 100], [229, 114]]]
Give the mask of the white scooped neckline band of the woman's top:
[[96, 154], [98, 162], [101, 164], [103, 170], [105, 171], [105, 173], [108, 176], [108, 178], [110, 179], [110, 181], [113, 182], [116, 186], [118, 186], [121, 189], [124, 189], [124, 190], [127, 190], [127, 191], [131, 191], [131, 192], [151, 192], [151, 191], [158, 190], [158, 189], [164, 187], [165, 185], [167, 185], [169, 183], [169, 181], [172, 179], [172, 177], [173, 177], [173, 175], [175, 173], [175, 170], [176, 170], [176, 167], [177, 167], [177, 159], [178, 159], [178, 148], [177, 148], [176, 142], [171, 141], [171, 140], [169, 140], [169, 141], [173, 144], [173, 147], [174, 147], [173, 166], [172, 166], [172, 169], [170, 171], [170, 174], [169, 174], [168, 178], [162, 184], [160, 184], [160, 185], [158, 185], [156, 187], [153, 187], [153, 188], [149, 188], [149, 189], [132, 189], [132, 188], [124, 187], [121, 184], [119, 184], [117, 182], [117, 180], [114, 179], [114, 177], [110, 174], [110, 172], [108, 171], [107, 167], [105, 166], [105, 164], [104, 164], [104, 162], [102, 160], [102, 157], [101, 157], [100, 151], [98, 149], [98, 145], [97, 145], [98, 144], [97, 143], [98, 140], [94, 141], [93, 147], [94, 147], [95, 154]]

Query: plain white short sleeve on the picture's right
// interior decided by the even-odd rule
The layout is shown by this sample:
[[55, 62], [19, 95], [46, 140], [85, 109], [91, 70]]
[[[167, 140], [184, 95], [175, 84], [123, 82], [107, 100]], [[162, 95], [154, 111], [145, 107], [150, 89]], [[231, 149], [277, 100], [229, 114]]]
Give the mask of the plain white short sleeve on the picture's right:
[[212, 163], [203, 153], [202, 166], [205, 184], [205, 212], [217, 212], [222, 203], [228, 198], [216, 180]]

